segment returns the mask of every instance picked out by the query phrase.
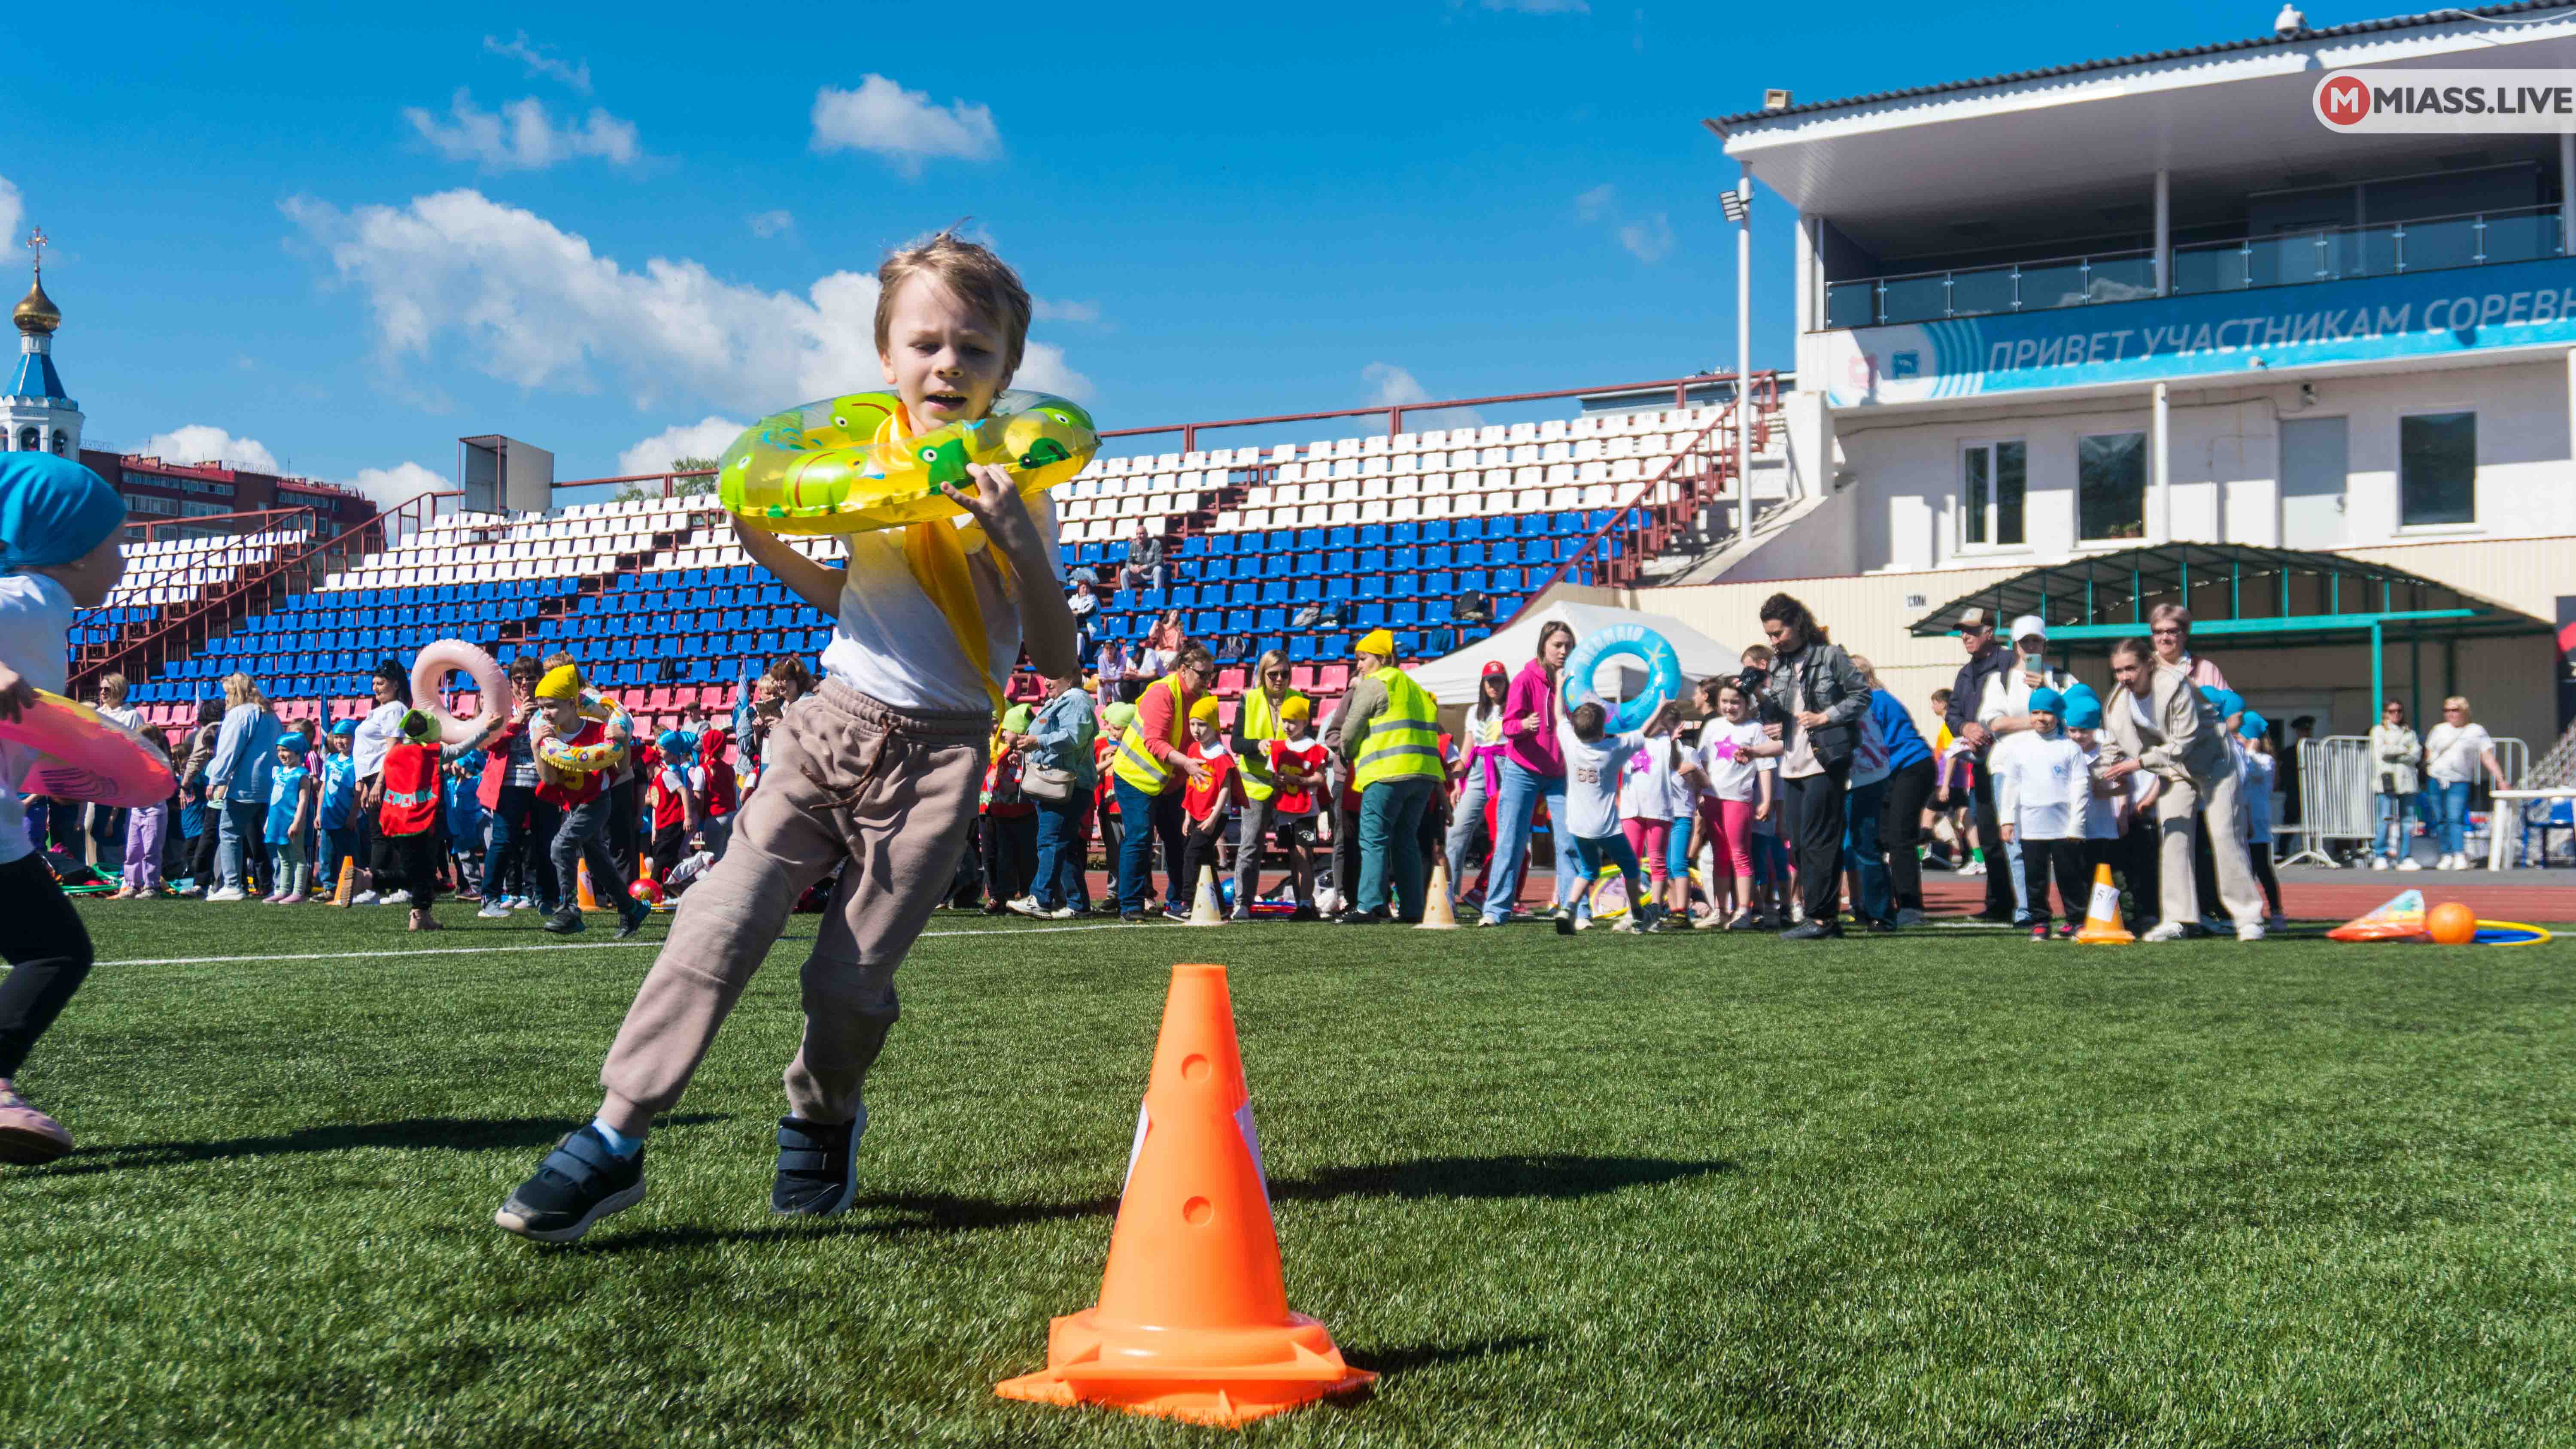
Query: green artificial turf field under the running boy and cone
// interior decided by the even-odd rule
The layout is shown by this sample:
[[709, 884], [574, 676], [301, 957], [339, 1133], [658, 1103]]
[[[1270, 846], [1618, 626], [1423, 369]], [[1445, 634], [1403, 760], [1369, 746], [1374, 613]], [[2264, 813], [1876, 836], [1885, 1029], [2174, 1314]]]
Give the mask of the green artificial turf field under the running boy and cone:
[[[992, 1395], [1097, 1295], [1175, 960], [1231, 968], [1291, 1302], [1383, 1372], [1255, 1441], [2576, 1441], [2568, 942], [943, 914], [858, 1207], [778, 1223], [801, 916], [644, 1204], [541, 1248], [492, 1207], [649, 950], [82, 914], [23, 1076], [80, 1150], [0, 1168], [10, 1446], [1208, 1441]], [[355, 955], [113, 965], [265, 952]]]

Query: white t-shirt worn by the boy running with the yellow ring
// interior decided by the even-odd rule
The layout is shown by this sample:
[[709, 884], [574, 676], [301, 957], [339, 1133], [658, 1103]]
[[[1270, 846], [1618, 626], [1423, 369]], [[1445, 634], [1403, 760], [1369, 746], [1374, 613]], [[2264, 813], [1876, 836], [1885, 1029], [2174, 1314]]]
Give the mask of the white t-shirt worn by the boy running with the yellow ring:
[[[1064, 556], [1056, 548], [1054, 499], [1046, 494], [1028, 499], [1028, 517], [1038, 525], [1038, 543], [1046, 546], [1046, 566], [1061, 595]], [[956, 522], [971, 520], [958, 515]], [[824, 674], [899, 710], [989, 710], [992, 692], [984, 677], [958, 649], [948, 615], [930, 602], [904, 564], [904, 530], [878, 528], [842, 538], [850, 543], [850, 577], [840, 587], [832, 643], [822, 651]], [[999, 574], [981, 564], [987, 548], [987, 543], [969, 546], [966, 564], [976, 605], [984, 610], [992, 679], [1010, 679], [1010, 669], [1020, 661], [1020, 605], [999, 587]]]

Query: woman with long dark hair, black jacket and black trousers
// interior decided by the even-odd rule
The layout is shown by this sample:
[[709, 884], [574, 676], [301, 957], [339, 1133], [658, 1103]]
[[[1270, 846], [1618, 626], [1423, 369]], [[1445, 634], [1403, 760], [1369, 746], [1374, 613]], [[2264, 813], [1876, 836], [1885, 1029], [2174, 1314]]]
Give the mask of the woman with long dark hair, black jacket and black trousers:
[[1842, 795], [1870, 713], [1870, 685], [1790, 595], [1762, 600], [1762, 633], [1772, 643], [1770, 677], [1762, 682], [1765, 715], [1785, 718], [1762, 728], [1783, 746], [1780, 788], [1788, 795], [1790, 839], [1798, 842], [1798, 898], [1806, 909], [1806, 919], [1780, 932], [1780, 939], [1839, 937]]

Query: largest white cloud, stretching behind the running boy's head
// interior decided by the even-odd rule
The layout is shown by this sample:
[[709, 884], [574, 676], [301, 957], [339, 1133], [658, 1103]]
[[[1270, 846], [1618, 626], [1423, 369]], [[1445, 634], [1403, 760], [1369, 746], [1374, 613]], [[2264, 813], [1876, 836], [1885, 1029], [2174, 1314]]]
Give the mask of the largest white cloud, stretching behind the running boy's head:
[[[605, 368], [636, 407], [693, 399], [752, 417], [884, 383], [868, 273], [829, 273], [796, 296], [688, 257], [626, 270], [479, 190], [353, 211], [294, 198], [286, 214], [366, 293], [386, 363], [430, 358], [456, 332], [461, 360], [523, 389], [598, 391]], [[1015, 386], [1090, 394], [1046, 342], [1028, 345]]]

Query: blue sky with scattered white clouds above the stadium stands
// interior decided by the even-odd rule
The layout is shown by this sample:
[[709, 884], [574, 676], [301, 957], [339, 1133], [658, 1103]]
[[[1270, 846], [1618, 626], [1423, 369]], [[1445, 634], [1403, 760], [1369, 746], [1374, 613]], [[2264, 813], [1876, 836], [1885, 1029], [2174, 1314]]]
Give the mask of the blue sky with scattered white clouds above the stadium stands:
[[[2272, 26], [987, 3], [912, 39], [891, 5], [394, 10], [13, 18], [46, 64], [10, 75], [0, 221], [54, 237], [93, 440], [394, 494], [469, 432], [554, 448], [559, 479], [657, 466], [711, 450], [708, 420], [876, 386], [876, 263], [958, 216], [1041, 299], [1023, 383], [1105, 427], [1677, 376], [1734, 347], [1734, 167], [1700, 116]], [[1777, 201], [1754, 245], [1754, 365], [1788, 365]]]

